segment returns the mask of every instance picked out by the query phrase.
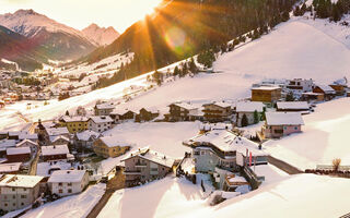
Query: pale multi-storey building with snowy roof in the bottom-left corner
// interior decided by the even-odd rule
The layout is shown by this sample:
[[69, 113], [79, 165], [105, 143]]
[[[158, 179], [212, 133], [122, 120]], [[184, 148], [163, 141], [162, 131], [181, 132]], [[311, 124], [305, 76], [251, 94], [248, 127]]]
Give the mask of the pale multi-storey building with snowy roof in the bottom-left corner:
[[0, 209], [12, 211], [32, 205], [39, 197], [43, 177], [4, 174], [0, 177]]

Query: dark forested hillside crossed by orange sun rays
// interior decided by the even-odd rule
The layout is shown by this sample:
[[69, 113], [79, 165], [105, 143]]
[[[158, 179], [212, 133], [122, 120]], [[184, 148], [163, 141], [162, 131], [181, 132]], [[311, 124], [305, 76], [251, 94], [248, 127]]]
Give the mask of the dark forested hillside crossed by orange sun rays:
[[[164, 4], [167, 0], [164, 1]], [[254, 31], [252, 38], [289, 20], [296, 0], [174, 0], [130, 26], [112, 45], [82, 59], [90, 63], [115, 53], [135, 52], [104, 87], [141, 73], [168, 65], [196, 53], [222, 50], [229, 40]], [[245, 38], [244, 38], [245, 40]], [[218, 49], [219, 47], [219, 49]], [[210, 59], [211, 53], [202, 53]]]

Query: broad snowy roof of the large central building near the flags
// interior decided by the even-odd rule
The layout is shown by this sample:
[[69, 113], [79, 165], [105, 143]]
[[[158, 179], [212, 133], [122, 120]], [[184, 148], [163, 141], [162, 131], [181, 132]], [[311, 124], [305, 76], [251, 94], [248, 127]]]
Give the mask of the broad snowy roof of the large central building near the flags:
[[189, 140], [190, 143], [199, 143], [202, 146], [211, 144], [222, 152], [240, 152], [245, 155], [246, 149], [252, 152], [253, 155], [265, 155], [258, 149], [258, 144], [249, 141], [246, 137], [237, 136], [228, 130], [213, 130], [201, 135], [197, 135]]

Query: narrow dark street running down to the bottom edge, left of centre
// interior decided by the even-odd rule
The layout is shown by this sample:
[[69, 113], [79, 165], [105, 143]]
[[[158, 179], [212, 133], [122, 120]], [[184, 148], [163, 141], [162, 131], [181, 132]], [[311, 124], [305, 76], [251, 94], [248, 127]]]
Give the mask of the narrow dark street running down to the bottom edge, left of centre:
[[95, 218], [98, 216], [101, 210], [107, 204], [108, 199], [113, 195], [113, 193], [117, 190], [125, 187], [125, 175], [122, 174], [122, 170], [118, 170], [116, 175], [108, 181], [106, 192], [101, 197], [100, 202], [95, 205], [95, 207], [90, 211], [86, 218]]

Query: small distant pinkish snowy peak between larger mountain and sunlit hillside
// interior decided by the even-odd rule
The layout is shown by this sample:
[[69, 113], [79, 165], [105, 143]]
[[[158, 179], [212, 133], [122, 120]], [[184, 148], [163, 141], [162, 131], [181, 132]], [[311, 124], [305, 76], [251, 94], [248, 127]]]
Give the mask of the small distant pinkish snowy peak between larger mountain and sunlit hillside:
[[119, 33], [112, 26], [108, 28], [100, 27], [97, 24], [91, 24], [82, 29], [84, 36], [97, 46], [106, 46], [112, 44], [119, 37]]

